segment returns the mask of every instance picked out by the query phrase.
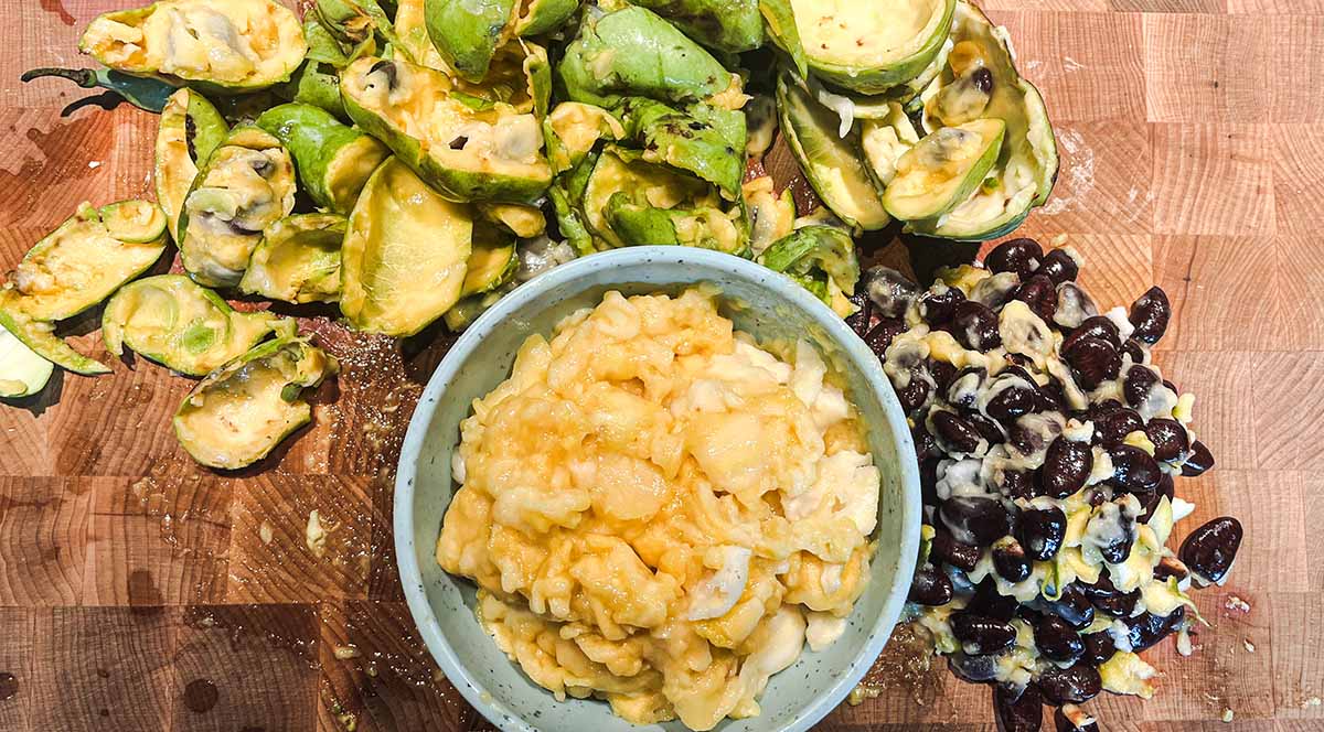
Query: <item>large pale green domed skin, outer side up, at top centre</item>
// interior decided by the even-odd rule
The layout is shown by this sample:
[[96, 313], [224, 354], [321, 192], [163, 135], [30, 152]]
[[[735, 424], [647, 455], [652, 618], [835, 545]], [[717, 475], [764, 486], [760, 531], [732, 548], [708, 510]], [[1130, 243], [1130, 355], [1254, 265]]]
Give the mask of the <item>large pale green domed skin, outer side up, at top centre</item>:
[[[609, 53], [610, 64], [594, 62]], [[608, 66], [605, 75], [594, 73]], [[585, 24], [556, 66], [569, 99], [614, 107], [622, 95], [698, 102], [731, 87], [731, 73], [707, 50], [646, 8]]]

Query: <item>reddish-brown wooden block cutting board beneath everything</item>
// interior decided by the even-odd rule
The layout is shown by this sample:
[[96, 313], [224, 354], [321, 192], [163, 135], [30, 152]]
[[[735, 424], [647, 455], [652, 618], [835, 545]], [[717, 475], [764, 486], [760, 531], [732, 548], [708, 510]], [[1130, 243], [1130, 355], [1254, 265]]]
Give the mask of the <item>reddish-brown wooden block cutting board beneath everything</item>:
[[[119, 0], [17, 0], [0, 50], [0, 266], [74, 206], [151, 196], [155, 118], [105, 111], [30, 66], [85, 65], [82, 26]], [[1182, 480], [1186, 529], [1246, 526], [1190, 658], [1148, 653], [1149, 702], [1102, 698], [1104, 729], [1324, 728], [1324, 4], [1319, 0], [990, 0], [1043, 90], [1063, 156], [1025, 233], [1084, 252], [1095, 299], [1153, 282], [1176, 322], [1165, 375], [1194, 390], [1217, 470]], [[101, 102], [103, 99], [93, 99]], [[768, 167], [793, 171], [782, 154]], [[886, 242], [883, 242], [886, 245]], [[894, 263], [970, 255], [882, 246]], [[315, 425], [253, 470], [218, 475], [176, 446], [191, 381], [138, 360], [0, 405], [0, 729], [486, 729], [409, 619], [391, 539], [391, 471], [449, 339], [396, 345], [307, 318], [344, 364]], [[77, 345], [105, 357], [95, 316]], [[316, 510], [336, 528], [314, 556]], [[1174, 541], [1180, 541], [1178, 529]], [[879, 692], [821, 725], [992, 729], [985, 687], [906, 638]], [[551, 703], [551, 700], [548, 700]]]

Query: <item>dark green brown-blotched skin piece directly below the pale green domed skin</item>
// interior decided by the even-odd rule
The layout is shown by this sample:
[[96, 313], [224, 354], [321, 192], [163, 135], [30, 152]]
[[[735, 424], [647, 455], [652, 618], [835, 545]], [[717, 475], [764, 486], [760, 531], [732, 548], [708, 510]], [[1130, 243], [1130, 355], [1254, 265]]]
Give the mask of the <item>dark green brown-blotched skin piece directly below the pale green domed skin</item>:
[[[695, 105], [695, 109], [708, 105]], [[698, 115], [685, 114], [662, 102], [633, 97], [618, 109], [626, 120], [626, 134], [643, 148], [643, 159], [665, 163], [688, 171], [716, 185], [723, 197], [740, 197], [740, 179], [744, 176], [744, 115], [739, 131], [722, 130], [706, 124]], [[727, 135], [736, 139], [727, 139]]]

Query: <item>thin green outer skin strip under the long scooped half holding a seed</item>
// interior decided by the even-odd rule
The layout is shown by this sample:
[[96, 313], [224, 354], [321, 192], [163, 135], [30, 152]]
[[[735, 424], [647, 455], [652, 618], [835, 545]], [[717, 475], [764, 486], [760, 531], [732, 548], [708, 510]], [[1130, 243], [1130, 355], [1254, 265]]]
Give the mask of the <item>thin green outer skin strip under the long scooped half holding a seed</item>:
[[[397, 61], [397, 64], [400, 64]], [[457, 203], [502, 201], [531, 204], [551, 185], [547, 175], [512, 176], [491, 172], [461, 171], [442, 165], [422, 148], [422, 143], [404, 134], [377, 113], [364, 107], [342, 83], [344, 109], [350, 118], [373, 138], [381, 140], [402, 163], [437, 189], [444, 199]]]

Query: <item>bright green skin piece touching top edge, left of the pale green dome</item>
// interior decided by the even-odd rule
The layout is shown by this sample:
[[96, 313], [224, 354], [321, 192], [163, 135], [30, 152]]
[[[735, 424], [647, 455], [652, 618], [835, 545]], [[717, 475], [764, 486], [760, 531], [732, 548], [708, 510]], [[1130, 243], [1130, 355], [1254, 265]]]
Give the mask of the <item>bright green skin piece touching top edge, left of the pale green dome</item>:
[[502, 45], [516, 0], [428, 0], [428, 37], [455, 73], [479, 83]]

